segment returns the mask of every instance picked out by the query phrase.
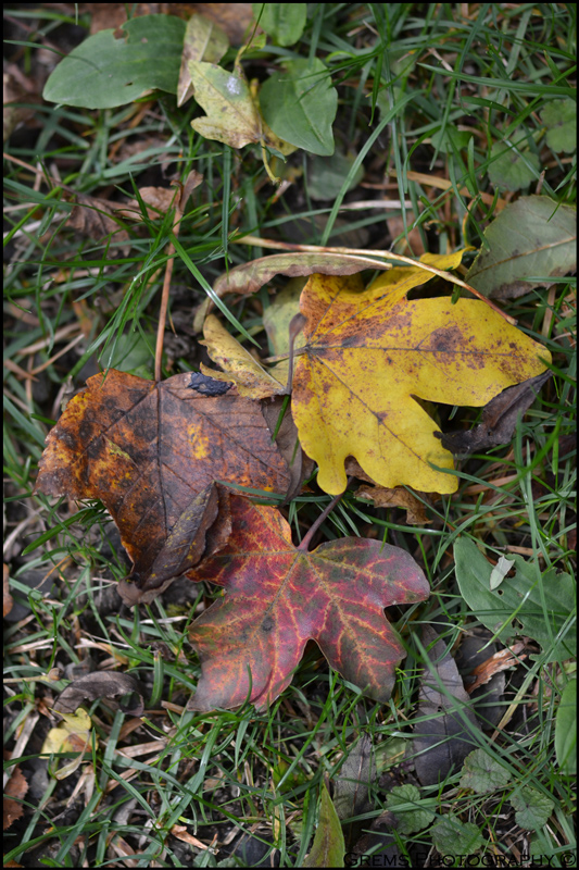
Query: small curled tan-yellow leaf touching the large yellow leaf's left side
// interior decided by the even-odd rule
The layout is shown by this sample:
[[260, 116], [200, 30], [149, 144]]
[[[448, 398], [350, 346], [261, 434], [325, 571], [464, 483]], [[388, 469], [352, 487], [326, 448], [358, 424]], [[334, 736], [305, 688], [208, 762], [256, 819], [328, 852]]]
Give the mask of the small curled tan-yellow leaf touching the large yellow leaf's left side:
[[216, 381], [234, 382], [239, 395], [251, 399], [265, 399], [285, 391], [286, 382], [280, 383], [263, 365], [260, 365], [249, 350], [246, 350], [237, 338], [227, 332], [214, 314], [206, 318], [203, 324], [203, 335], [205, 340], [199, 344], [207, 348], [210, 358], [224, 370], [215, 372], [201, 364], [203, 374], [210, 375]]

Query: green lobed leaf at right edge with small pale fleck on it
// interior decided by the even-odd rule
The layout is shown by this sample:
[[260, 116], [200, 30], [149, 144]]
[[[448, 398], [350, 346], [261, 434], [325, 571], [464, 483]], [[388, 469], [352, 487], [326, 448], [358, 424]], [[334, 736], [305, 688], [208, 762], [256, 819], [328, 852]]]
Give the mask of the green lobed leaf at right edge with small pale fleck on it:
[[[461, 595], [483, 625], [501, 641], [526, 634], [547, 652], [546, 661], [576, 655], [577, 641], [571, 630], [553, 644], [575, 611], [575, 580], [550, 569], [541, 574], [537, 563], [513, 556], [516, 574], [496, 589], [490, 588], [492, 566], [476, 544], [466, 537], [454, 545], [456, 581]], [[520, 623], [520, 627], [514, 624]]]

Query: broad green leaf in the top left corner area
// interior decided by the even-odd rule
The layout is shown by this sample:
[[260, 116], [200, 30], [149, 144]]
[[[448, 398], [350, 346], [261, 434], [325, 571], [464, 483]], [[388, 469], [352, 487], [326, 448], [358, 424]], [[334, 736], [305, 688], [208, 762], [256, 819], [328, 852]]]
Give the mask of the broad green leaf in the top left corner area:
[[45, 100], [113, 109], [158, 88], [177, 92], [185, 22], [174, 15], [131, 18], [89, 36], [49, 77]]

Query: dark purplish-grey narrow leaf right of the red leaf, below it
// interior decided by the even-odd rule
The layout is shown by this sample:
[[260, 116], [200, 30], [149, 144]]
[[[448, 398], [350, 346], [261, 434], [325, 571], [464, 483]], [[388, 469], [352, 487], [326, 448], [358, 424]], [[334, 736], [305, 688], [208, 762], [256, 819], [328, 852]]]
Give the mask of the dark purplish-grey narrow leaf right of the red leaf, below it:
[[412, 742], [416, 775], [423, 785], [442, 782], [460, 768], [475, 748], [473, 732], [480, 732], [456, 663], [437, 637], [433, 629], [425, 626], [425, 647], [435, 643], [428, 649], [429, 667], [420, 681]]

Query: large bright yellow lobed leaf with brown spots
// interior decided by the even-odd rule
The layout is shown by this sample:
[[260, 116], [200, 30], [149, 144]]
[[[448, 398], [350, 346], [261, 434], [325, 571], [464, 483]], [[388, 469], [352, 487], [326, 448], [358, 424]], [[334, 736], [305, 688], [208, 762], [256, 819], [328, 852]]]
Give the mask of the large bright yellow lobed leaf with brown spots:
[[[446, 268], [450, 258], [440, 259], [436, 264]], [[360, 275], [313, 275], [304, 287], [307, 344], [295, 364], [291, 408], [326, 493], [344, 490], [348, 456], [381, 486], [454, 493], [452, 455], [416, 399], [486, 405], [544, 371], [541, 356], [551, 359], [484, 302], [408, 300], [408, 289], [430, 277], [419, 272], [392, 269], [366, 290]]]

